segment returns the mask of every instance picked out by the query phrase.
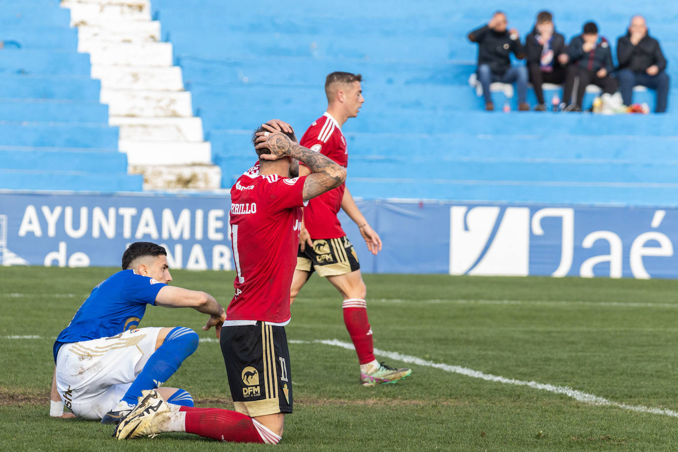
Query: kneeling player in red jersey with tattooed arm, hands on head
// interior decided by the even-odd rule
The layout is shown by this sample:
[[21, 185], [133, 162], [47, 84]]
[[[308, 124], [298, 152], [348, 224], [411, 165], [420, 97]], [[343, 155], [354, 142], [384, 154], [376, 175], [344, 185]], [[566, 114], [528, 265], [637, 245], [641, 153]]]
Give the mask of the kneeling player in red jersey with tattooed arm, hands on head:
[[[302, 209], [342, 184], [346, 169], [296, 144], [281, 121], [252, 138], [259, 155], [231, 188], [231, 241], [237, 276], [220, 344], [235, 411], [165, 403], [155, 391], [119, 424], [119, 439], [188, 432], [235, 443], [277, 444], [292, 413], [292, 373], [285, 325]], [[285, 133], [277, 130], [282, 129]], [[299, 161], [310, 168], [298, 177]]]

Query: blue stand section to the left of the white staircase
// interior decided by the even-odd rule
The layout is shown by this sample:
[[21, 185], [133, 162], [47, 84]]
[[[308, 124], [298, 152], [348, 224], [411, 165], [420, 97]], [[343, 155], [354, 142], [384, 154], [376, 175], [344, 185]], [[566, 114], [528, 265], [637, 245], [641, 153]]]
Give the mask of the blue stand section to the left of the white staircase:
[[0, 189], [141, 190], [58, 1], [0, 0]]

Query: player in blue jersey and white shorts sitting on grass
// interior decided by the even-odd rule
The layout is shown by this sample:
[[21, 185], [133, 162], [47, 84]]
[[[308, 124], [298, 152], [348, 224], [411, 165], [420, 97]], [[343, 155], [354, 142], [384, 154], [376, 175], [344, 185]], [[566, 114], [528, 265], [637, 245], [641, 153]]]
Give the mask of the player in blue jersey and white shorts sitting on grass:
[[[226, 319], [212, 295], [167, 285], [167, 251], [150, 242], [129, 245], [123, 270], [89, 294], [54, 342], [54, 379], [49, 415], [101, 419], [113, 424], [137, 403], [142, 390], [159, 388], [198, 347], [186, 327], [138, 328], [146, 304], [193, 308], [210, 319], [203, 327], [219, 337]], [[193, 407], [185, 390], [159, 388], [169, 403]], [[73, 414], [64, 414], [64, 404]]]

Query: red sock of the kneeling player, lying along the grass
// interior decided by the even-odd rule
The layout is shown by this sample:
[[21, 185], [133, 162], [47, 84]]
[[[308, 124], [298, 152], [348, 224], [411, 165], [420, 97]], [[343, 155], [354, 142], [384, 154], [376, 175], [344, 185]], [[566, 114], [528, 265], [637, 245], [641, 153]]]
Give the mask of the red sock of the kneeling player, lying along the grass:
[[264, 443], [252, 417], [220, 408], [181, 407], [186, 411], [186, 432], [233, 443]]

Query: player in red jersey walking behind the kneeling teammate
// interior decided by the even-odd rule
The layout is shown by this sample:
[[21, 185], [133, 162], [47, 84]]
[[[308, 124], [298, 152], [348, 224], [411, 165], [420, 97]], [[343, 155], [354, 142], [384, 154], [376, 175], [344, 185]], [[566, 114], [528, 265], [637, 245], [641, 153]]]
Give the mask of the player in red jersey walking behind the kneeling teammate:
[[[327, 111], [308, 127], [300, 142], [302, 146], [330, 157], [342, 167], [348, 165], [348, 150], [341, 127], [346, 119], [358, 115], [365, 102], [361, 81], [359, 74], [336, 72], [327, 75]], [[307, 167], [300, 167], [300, 175], [309, 172]], [[374, 358], [372, 328], [367, 320], [365, 304], [367, 287], [360, 274], [358, 255], [337, 218], [339, 209], [344, 209], [358, 225], [367, 242], [367, 249], [372, 254], [381, 251], [379, 235], [367, 224], [345, 184], [321, 194], [304, 209], [304, 226], [300, 235], [290, 304], [314, 271], [325, 276], [344, 297], [344, 324], [358, 354], [360, 383], [363, 386], [395, 383], [410, 375], [412, 370], [396, 369]]]

